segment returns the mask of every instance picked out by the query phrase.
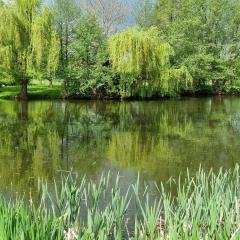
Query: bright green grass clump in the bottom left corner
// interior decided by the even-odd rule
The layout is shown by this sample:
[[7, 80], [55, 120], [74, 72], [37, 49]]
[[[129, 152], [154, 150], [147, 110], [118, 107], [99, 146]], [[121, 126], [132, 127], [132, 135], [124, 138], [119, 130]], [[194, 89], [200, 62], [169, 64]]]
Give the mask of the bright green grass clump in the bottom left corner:
[[27, 206], [23, 199], [9, 202], [1, 197], [0, 203], [2, 240], [63, 239], [61, 220], [44, 213], [40, 208]]

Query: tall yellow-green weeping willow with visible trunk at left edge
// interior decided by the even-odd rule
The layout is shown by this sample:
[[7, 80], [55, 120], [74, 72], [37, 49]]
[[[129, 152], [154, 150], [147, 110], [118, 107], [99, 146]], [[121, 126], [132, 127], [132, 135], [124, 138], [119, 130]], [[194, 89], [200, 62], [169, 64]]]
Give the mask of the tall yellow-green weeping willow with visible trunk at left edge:
[[0, 70], [20, 86], [27, 99], [31, 78], [58, 66], [59, 40], [52, 29], [52, 15], [39, 0], [13, 0], [0, 5]]

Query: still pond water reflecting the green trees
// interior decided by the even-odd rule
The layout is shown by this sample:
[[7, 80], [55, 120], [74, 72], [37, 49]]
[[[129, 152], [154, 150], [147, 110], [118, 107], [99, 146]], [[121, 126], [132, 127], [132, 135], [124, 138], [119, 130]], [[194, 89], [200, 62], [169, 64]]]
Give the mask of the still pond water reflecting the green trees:
[[240, 163], [240, 98], [150, 102], [0, 101], [0, 187], [26, 192], [64, 171], [136, 180]]

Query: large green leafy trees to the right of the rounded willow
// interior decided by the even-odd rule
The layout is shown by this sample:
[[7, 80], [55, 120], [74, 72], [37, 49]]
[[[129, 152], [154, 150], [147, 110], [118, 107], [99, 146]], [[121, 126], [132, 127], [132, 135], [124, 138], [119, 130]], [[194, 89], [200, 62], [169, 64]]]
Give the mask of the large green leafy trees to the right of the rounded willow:
[[239, 7], [229, 0], [156, 1], [151, 24], [174, 48], [174, 64], [188, 67], [196, 90], [219, 92], [239, 80]]

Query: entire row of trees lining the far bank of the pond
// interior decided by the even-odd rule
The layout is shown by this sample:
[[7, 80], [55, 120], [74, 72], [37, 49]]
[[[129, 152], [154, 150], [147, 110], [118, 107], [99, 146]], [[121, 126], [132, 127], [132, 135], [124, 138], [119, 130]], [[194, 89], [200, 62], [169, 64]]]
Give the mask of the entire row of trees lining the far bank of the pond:
[[73, 98], [240, 92], [239, 0], [0, 1], [0, 19], [0, 79], [21, 99], [32, 79]]

